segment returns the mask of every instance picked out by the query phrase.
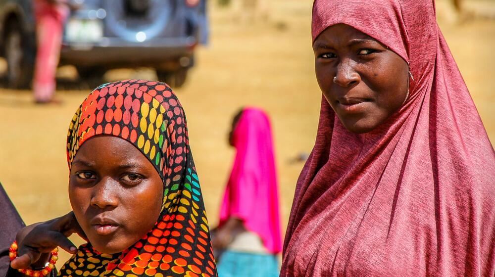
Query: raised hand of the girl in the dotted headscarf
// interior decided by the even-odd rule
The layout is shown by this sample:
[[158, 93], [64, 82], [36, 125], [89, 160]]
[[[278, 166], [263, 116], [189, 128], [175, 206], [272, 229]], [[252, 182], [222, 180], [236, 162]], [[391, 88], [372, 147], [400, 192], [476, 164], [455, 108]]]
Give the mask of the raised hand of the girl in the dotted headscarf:
[[77, 247], [67, 238], [73, 233], [88, 240], [73, 212], [24, 227], [17, 233], [18, 257], [10, 262], [10, 266], [13, 269], [42, 267], [48, 262], [51, 250], [57, 246], [75, 254]]

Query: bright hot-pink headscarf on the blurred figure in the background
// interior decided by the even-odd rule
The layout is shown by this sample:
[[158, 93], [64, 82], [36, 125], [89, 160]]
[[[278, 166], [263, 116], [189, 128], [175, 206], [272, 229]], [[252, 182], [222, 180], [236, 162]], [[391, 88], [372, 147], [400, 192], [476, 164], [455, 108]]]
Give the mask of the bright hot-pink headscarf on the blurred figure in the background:
[[229, 217], [242, 219], [269, 252], [280, 253], [277, 172], [267, 115], [257, 108], [244, 109], [233, 144], [237, 154], [220, 209], [220, 225]]

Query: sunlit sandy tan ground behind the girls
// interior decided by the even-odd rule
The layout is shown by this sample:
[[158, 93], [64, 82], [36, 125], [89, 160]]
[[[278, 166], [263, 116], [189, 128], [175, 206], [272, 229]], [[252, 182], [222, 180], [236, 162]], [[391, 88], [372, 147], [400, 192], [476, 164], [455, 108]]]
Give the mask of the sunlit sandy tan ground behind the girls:
[[[493, 1], [476, 1], [483, 6]], [[471, 3], [470, 3], [471, 4]], [[256, 105], [272, 118], [280, 177], [283, 229], [301, 162], [318, 121], [320, 92], [310, 43], [310, 1], [274, 0], [266, 22], [247, 23], [211, 5], [211, 41], [198, 50], [189, 82], [176, 90], [185, 107], [190, 140], [211, 225], [217, 222], [233, 150], [226, 142], [231, 116]], [[445, 2], [441, 28], [495, 141], [495, 22], [459, 24]], [[110, 79], [155, 78], [149, 70], [120, 70]], [[0, 181], [27, 224], [70, 211], [65, 137], [73, 112], [89, 91], [59, 91], [61, 106], [37, 106], [28, 91], [0, 89]], [[80, 240], [75, 240], [80, 242]], [[62, 255], [62, 259], [68, 255]]]

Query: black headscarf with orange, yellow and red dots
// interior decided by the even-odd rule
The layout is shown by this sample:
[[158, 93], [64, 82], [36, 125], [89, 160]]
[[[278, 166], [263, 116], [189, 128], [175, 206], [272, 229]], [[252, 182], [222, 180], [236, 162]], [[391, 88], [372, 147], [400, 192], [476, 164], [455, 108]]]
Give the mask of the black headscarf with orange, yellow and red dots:
[[70, 123], [69, 169], [79, 147], [98, 135], [126, 139], [148, 157], [163, 180], [162, 211], [153, 229], [129, 249], [104, 254], [83, 244], [59, 276], [216, 277], [186, 118], [170, 87], [125, 80], [91, 92]]

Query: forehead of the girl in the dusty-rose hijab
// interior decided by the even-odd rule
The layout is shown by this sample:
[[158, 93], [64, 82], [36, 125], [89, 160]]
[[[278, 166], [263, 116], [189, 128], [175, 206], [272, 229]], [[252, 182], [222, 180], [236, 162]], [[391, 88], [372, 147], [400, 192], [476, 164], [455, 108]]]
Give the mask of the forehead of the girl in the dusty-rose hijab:
[[378, 42], [374, 38], [368, 36], [367, 34], [349, 26], [346, 24], [335, 24], [327, 29], [325, 29], [316, 38], [313, 43], [313, 48], [323, 47], [326, 48], [328, 45], [348, 45], [352, 40], [360, 41], [373, 41]]

